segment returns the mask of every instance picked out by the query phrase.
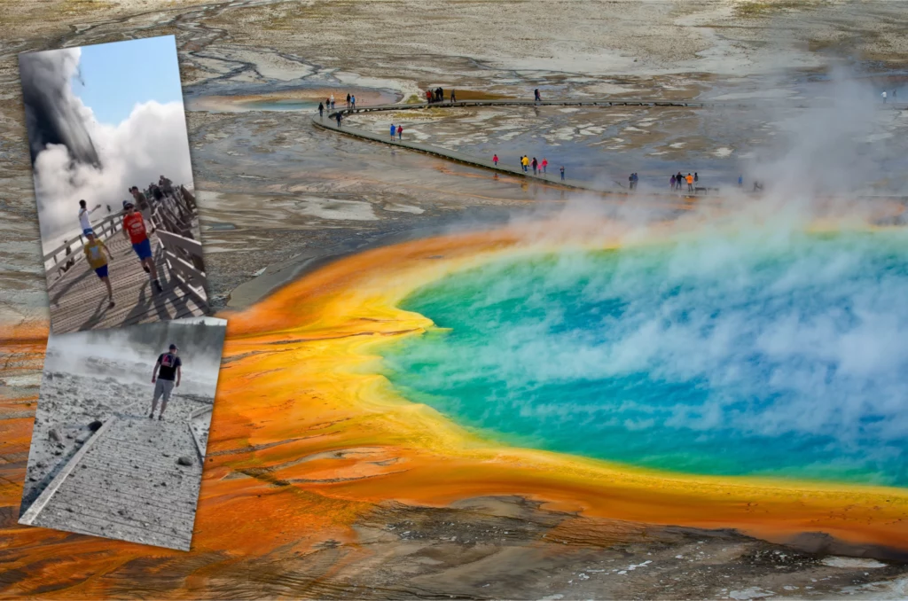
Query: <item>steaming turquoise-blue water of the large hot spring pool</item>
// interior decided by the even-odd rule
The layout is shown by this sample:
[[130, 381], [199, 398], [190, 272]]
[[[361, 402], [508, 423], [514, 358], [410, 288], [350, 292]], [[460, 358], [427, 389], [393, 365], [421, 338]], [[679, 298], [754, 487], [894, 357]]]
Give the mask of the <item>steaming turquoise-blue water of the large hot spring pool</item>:
[[908, 485], [903, 232], [496, 261], [415, 291], [408, 399], [511, 445], [648, 468]]

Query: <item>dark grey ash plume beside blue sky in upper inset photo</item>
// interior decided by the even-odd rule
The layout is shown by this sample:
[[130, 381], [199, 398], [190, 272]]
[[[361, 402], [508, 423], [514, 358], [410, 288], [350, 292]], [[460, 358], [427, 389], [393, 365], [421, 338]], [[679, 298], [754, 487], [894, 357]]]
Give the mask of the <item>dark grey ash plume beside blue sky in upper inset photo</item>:
[[70, 89], [78, 61], [78, 54], [69, 49], [19, 54], [32, 163], [47, 144], [63, 144], [75, 162], [101, 166]]

